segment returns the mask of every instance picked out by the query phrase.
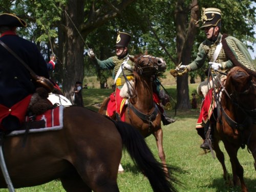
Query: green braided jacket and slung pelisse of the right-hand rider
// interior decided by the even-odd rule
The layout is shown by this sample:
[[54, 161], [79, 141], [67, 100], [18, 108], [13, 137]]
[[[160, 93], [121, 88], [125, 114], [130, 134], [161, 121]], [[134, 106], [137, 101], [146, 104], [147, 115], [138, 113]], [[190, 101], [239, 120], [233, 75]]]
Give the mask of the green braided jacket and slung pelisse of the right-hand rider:
[[[197, 58], [188, 65], [189, 71], [194, 71], [201, 68], [206, 59], [208, 60], [208, 62], [210, 62], [210, 59], [214, 55], [217, 45], [221, 40], [221, 37], [222, 34], [219, 33], [219, 36], [215, 42], [206, 39], [200, 44]], [[237, 38], [234, 38], [232, 36], [228, 36], [225, 39], [227, 41], [228, 47], [231, 49], [238, 61], [248, 69], [255, 71], [255, 65], [253, 64], [253, 61], [245, 45]], [[233, 67], [233, 63], [228, 59], [223, 47], [221, 48], [221, 51], [215, 62], [221, 63], [222, 70], [224, 71], [228, 71], [230, 68]]]

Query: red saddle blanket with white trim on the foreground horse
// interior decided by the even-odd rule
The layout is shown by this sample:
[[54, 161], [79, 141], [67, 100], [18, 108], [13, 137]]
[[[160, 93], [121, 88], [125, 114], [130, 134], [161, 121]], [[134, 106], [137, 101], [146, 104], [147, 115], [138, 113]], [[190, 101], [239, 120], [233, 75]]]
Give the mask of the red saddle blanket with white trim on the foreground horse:
[[[63, 109], [64, 106], [60, 105], [57, 108], [46, 111], [44, 114], [37, 115], [34, 121], [42, 121], [44, 122], [44, 126], [35, 128], [32, 123], [29, 133], [61, 130], [63, 128]], [[25, 122], [28, 121], [29, 117], [26, 116]], [[25, 132], [26, 130], [15, 130], [8, 134], [8, 136], [21, 135]]]

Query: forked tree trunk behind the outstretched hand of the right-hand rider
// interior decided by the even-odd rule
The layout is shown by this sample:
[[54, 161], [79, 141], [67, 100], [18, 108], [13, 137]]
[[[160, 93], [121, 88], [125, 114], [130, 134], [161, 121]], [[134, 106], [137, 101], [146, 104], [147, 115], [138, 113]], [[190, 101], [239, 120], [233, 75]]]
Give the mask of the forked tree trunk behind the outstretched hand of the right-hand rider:
[[[179, 0], [175, 11], [176, 29], [177, 29], [177, 55], [178, 63], [182, 62], [182, 65], [188, 65], [191, 59], [191, 51], [193, 48], [193, 42], [197, 32], [195, 20], [198, 20], [197, 0], [192, 0], [191, 3], [191, 15], [190, 22], [186, 31], [186, 15], [187, 11], [183, 7], [184, 0]], [[187, 110], [190, 109], [188, 94], [188, 75], [177, 77], [177, 109]]]

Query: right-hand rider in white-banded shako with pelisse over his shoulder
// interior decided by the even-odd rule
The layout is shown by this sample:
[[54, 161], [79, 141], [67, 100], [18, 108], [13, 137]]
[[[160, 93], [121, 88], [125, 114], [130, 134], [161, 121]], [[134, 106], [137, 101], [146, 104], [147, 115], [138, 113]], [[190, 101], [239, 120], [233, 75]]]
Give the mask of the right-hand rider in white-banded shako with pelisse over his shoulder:
[[[198, 49], [197, 58], [189, 65], [180, 65], [176, 68], [177, 75], [182, 76], [189, 71], [194, 71], [201, 68], [206, 59], [211, 71], [216, 75], [217, 71], [227, 73], [232, 67], [240, 66], [247, 70], [255, 71], [256, 67], [250, 57], [250, 54], [245, 45], [232, 36], [221, 34], [221, 10], [217, 8], [207, 8], [202, 10], [203, 25], [200, 29], [204, 30], [206, 40], [204, 40]], [[220, 74], [219, 74], [220, 76]], [[225, 78], [224, 75], [220, 79]], [[209, 78], [212, 84], [212, 79]], [[220, 88], [220, 83], [215, 87]], [[210, 129], [210, 117], [216, 101], [212, 99], [212, 96], [216, 90], [209, 89], [202, 102], [200, 116], [197, 122], [197, 132], [203, 138], [204, 142], [201, 144], [201, 148], [209, 150], [210, 146], [214, 142], [213, 129]], [[206, 133], [209, 130], [209, 136], [206, 137]]]

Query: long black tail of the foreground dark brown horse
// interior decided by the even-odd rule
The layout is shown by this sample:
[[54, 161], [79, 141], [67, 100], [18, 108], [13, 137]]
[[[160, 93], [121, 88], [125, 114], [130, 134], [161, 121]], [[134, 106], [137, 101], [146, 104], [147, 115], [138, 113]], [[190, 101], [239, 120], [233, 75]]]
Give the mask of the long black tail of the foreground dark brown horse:
[[[115, 121], [121, 135], [123, 147], [130, 154], [133, 162], [148, 178], [154, 191], [177, 191], [173, 183], [179, 183], [170, 173], [164, 171], [164, 165], [158, 162], [148, 148], [143, 136], [131, 124]], [[170, 169], [170, 165], [165, 165]], [[174, 168], [174, 167], [172, 167]], [[176, 168], [177, 169], [177, 168]]]

